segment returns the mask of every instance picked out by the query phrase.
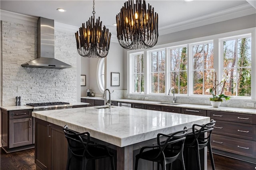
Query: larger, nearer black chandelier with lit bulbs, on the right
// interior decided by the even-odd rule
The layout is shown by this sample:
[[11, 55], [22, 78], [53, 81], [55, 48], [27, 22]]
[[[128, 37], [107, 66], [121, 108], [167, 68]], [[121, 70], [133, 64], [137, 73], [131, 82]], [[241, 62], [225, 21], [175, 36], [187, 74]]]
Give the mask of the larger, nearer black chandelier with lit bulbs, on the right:
[[158, 40], [158, 14], [145, 0], [128, 0], [116, 15], [117, 39], [125, 49], [147, 49]]

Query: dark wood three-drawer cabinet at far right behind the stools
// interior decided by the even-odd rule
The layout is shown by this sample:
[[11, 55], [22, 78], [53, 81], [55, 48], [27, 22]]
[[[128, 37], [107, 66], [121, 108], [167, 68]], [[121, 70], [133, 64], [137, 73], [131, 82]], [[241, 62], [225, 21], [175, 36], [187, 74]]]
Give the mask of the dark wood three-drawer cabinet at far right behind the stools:
[[216, 121], [211, 139], [215, 152], [256, 161], [256, 115], [210, 110], [207, 115]]

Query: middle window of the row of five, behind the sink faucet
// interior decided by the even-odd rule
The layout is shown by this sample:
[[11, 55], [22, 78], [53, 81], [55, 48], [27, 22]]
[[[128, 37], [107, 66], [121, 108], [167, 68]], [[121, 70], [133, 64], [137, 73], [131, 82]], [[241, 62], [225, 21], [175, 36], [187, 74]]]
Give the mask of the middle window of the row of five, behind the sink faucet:
[[170, 52], [170, 84], [176, 94], [187, 94], [188, 72], [187, 72], [187, 47], [178, 47]]

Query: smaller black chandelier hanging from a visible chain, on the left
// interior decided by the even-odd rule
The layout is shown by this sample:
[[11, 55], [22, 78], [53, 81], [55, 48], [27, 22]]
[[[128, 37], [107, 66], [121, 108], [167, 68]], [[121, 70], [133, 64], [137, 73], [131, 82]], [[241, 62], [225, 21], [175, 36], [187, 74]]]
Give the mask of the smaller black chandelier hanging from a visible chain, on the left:
[[83, 23], [79, 28], [80, 35], [75, 33], [77, 51], [83, 57], [104, 58], [108, 55], [111, 33], [105, 26], [102, 30], [100, 17], [95, 22], [94, 0], [92, 14], [93, 17], [86, 22], [86, 26]]

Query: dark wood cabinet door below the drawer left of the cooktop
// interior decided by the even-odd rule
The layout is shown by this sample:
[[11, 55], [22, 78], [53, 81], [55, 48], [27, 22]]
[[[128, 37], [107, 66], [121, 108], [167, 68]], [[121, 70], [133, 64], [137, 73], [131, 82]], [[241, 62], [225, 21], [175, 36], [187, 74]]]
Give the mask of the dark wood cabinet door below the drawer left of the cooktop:
[[33, 143], [32, 117], [9, 120], [9, 148]]

